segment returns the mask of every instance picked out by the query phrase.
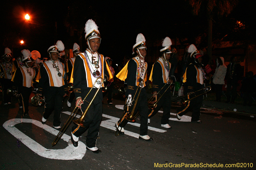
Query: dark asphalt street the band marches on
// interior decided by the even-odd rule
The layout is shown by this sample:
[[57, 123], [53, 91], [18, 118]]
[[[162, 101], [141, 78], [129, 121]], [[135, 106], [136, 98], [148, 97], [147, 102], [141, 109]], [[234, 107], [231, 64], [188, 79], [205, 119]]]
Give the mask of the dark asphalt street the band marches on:
[[[72, 107], [68, 108], [66, 102], [67, 98], [63, 103], [62, 124], [66, 122], [75, 105], [73, 101]], [[113, 105], [108, 105], [106, 97], [104, 98], [103, 117], [97, 139], [97, 147], [102, 152], [95, 154], [85, 149], [86, 133], [79, 138], [77, 148], [69, 143], [72, 124], [63, 139], [52, 146], [58, 130], [52, 128], [53, 115], [45, 125], [41, 123], [44, 106], [34, 107], [30, 103], [29, 117], [24, 118], [18, 113], [17, 99], [13, 99], [12, 104], [7, 106], [0, 101], [1, 169], [144, 170], [256, 167], [256, 119], [253, 114], [202, 109], [200, 120], [203, 123], [198, 124], [188, 122], [191, 113], [178, 121], [175, 109], [179, 106], [173, 105], [169, 121], [172, 128], [161, 127], [162, 113], [157, 113], [148, 125], [148, 135], [154, 140], [147, 142], [138, 139], [140, 117], [136, 123], [125, 126], [124, 135], [115, 136], [114, 125], [123, 114], [120, 109], [122, 105], [124, 101], [115, 99]], [[224, 167], [220, 167], [221, 164]]]

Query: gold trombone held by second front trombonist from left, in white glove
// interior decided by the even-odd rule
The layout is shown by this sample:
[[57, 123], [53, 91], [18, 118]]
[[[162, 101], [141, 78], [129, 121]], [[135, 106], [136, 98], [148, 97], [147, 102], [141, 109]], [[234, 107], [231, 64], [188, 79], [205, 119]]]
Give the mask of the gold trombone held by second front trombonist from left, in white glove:
[[[124, 114], [122, 115], [121, 119], [124, 117], [124, 115], [127, 115], [127, 116], [125, 116], [125, 119], [126, 119], [127, 121], [132, 122], [132, 123], [135, 123], [135, 122], [136, 122], [136, 120], [135, 120], [136, 118], [134, 117], [134, 111], [135, 111], [135, 107], [136, 107], [136, 105], [137, 105], [138, 99], [139, 99], [139, 97], [140, 97], [140, 92], [141, 92], [141, 89], [142, 89], [143, 84], [144, 84], [144, 80], [143, 80], [143, 79], [140, 79], [139, 86], [137, 87], [137, 90], [136, 90], [136, 92], [135, 92], [135, 94], [134, 94], [134, 97], [136, 96], [136, 94], [137, 94], [139, 88], [140, 88], [140, 91], [139, 91], [138, 96], [137, 96], [137, 98], [136, 98], [136, 100], [135, 100], [135, 103], [134, 103], [134, 105], [133, 105], [132, 112], [130, 113], [129, 108], [128, 108], [127, 104], [126, 104], [126, 105], [124, 106]], [[140, 86], [141, 86], [141, 87], [140, 87]], [[132, 103], [133, 103], [133, 101], [134, 101], [134, 97], [133, 97], [133, 99], [132, 99]], [[131, 106], [132, 106], [132, 105], [131, 105]], [[124, 122], [124, 119], [122, 119], [122, 120], [119, 122], [118, 126], [117, 126], [116, 133], [115, 133], [116, 136], [118, 136], [118, 135], [120, 134], [119, 131], [118, 131], [118, 128], [119, 128], [121, 122]]]

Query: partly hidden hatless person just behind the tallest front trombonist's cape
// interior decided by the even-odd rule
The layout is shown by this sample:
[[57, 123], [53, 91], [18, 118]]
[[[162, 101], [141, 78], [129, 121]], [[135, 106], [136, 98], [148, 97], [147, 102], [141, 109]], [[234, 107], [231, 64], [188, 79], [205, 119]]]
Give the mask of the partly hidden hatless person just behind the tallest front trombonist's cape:
[[114, 75], [115, 75], [115, 70], [112, 67], [112, 59], [109, 57], [106, 57], [106, 62], [108, 63], [109, 69], [111, 71], [111, 74], [113, 76], [113, 78], [111, 78], [110, 80], [106, 81], [105, 87], [107, 87], [107, 91], [103, 93], [103, 97], [108, 93], [108, 104], [112, 105], [112, 92], [113, 92], [113, 88], [114, 88]]

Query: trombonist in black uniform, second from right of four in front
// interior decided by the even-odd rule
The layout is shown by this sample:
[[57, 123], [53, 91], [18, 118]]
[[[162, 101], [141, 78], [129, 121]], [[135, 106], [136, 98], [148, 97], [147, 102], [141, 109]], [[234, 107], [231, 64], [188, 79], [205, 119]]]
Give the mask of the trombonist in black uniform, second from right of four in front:
[[[152, 67], [151, 74], [149, 77], [149, 80], [152, 82], [153, 85], [153, 95], [155, 95], [157, 92], [164, 87], [164, 85], [169, 81], [169, 72], [171, 68], [171, 63], [169, 63], [169, 59], [171, 57], [172, 51], [171, 51], [171, 45], [172, 41], [169, 37], [166, 37], [163, 41], [163, 47], [160, 50], [161, 57], [157, 59], [155, 64]], [[166, 90], [167, 85], [161, 90], [160, 94], [163, 94], [163, 92]], [[161, 119], [161, 126], [164, 128], [171, 128], [169, 123], [170, 118], [170, 110], [171, 110], [171, 96], [172, 92], [169, 88], [161, 97], [161, 99], [158, 101], [156, 108], [149, 109], [148, 110], [148, 119], [150, 119], [152, 116], [156, 115], [156, 113], [160, 110], [161, 107], [163, 107], [163, 116]], [[156, 100], [160, 98], [160, 95], [158, 94], [156, 96]]]

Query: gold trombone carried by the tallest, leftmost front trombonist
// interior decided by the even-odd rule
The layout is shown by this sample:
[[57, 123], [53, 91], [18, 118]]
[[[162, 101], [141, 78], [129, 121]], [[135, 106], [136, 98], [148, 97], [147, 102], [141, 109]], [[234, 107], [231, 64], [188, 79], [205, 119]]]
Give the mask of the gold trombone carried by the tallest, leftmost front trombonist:
[[[98, 81], [99, 79], [101, 79], [101, 83], [100, 81]], [[95, 87], [95, 84], [100, 84], [100, 87], [102, 86], [102, 84], [104, 83], [103, 78], [98, 77], [96, 79], [96, 81], [94, 82], [94, 84], [92, 85], [92, 88]], [[81, 100], [77, 103], [75, 109], [73, 110], [73, 112], [69, 115], [68, 120], [64, 123], [63, 127], [60, 129], [60, 132], [58, 133], [58, 135], [55, 137], [55, 139], [52, 142], [52, 146], [56, 145], [58, 143], [58, 141], [60, 140], [60, 138], [62, 137], [62, 135], [64, 134], [64, 132], [66, 131], [66, 129], [68, 128], [69, 124], [72, 122], [75, 122], [76, 124], [78, 124], [79, 126], [84, 127], [84, 117], [87, 114], [90, 106], [92, 105], [93, 100], [95, 99], [96, 95], [98, 94], [100, 87], [98, 88], [97, 92], [95, 93], [95, 95], [93, 96], [91, 102], [89, 103], [88, 101], [86, 101], [85, 99], [87, 98], [88, 94], [92, 91], [92, 88], [90, 89], [90, 91], [87, 93], [87, 95], [85, 96], [84, 101], [86, 101], [87, 103], [89, 103], [89, 105], [87, 106], [86, 110], [84, 111], [83, 115], [77, 119], [77, 120], [73, 120], [74, 116], [76, 115], [77, 111], [79, 110], [79, 107], [77, 106], [81, 106]]]

